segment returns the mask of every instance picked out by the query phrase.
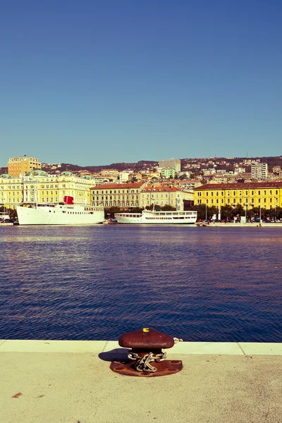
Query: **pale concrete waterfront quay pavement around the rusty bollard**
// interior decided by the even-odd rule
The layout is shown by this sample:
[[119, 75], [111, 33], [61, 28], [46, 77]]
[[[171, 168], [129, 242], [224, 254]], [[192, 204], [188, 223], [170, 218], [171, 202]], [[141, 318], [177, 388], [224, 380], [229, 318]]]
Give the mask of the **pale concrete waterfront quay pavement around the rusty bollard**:
[[282, 343], [179, 343], [171, 376], [121, 376], [116, 341], [0, 341], [5, 423], [280, 423]]

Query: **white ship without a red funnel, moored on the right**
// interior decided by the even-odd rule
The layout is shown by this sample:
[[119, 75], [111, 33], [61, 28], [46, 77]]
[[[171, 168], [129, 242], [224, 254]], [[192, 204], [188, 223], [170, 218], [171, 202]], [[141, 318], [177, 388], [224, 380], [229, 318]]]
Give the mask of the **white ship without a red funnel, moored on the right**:
[[118, 223], [138, 224], [189, 224], [197, 221], [197, 212], [156, 212], [143, 210], [142, 213], [115, 213]]

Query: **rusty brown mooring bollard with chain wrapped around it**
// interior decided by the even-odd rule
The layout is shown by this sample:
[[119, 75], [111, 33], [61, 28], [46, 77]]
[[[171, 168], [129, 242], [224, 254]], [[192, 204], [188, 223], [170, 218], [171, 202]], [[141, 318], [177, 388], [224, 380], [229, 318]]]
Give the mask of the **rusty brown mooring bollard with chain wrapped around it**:
[[162, 352], [162, 348], [171, 348], [174, 343], [172, 336], [152, 328], [124, 333], [118, 344], [131, 348], [128, 352], [129, 360], [111, 362], [111, 369], [128, 376], [165, 376], [180, 372], [183, 368], [182, 362], [165, 360], [166, 353]]

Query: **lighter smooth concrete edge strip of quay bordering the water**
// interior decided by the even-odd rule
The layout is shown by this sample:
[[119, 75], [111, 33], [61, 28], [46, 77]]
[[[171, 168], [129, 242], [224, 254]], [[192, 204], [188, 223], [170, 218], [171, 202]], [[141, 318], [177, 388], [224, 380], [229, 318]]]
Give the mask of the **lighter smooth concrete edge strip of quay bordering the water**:
[[[118, 341], [50, 341], [1, 339], [0, 353], [104, 353], [123, 352]], [[181, 355], [282, 355], [282, 343], [180, 342], [168, 353]]]

